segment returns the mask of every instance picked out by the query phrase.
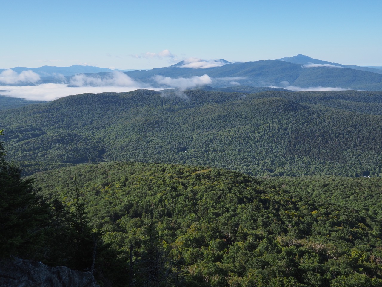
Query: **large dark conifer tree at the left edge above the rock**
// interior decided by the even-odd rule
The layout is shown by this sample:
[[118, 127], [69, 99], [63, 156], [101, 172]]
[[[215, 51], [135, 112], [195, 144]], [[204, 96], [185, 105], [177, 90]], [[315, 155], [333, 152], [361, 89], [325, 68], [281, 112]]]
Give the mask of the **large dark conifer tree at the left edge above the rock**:
[[47, 223], [47, 206], [37, 196], [33, 180], [21, 179], [21, 169], [5, 156], [0, 142], [0, 256], [33, 258]]

